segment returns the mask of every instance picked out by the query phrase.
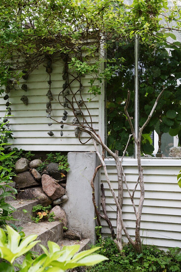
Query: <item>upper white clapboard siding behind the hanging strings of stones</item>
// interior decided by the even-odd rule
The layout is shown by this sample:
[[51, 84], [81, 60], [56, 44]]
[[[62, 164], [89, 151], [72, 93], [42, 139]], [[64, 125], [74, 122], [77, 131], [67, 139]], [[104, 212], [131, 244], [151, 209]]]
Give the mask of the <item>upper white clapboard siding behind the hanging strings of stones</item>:
[[[75, 138], [74, 128], [71, 122], [74, 118], [73, 112], [65, 108], [68, 112], [68, 118], [66, 123], [70, 125], [64, 125], [62, 129], [63, 137], [60, 136], [61, 128], [60, 124], [56, 123], [49, 118], [46, 118], [46, 102], [48, 102], [48, 97], [46, 93], [48, 92], [49, 85], [49, 75], [46, 73], [46, 68], [42, 64], [38, 69], [35, 69], [26, 81], [22, 79], [22, 82], [16, 90], [12, 90], [9, 95], [9, 101], [11, 104], [11, 116], [8, 118], [10, 121], [10, 129], [13, 131], [13, 136], [15, 140], [11, 140], [12, 147], [22, 148], [24, 150], [45, 150], [45, 151], [94, 151], [92, 145], [92, 140], [87, 144], [81, 144], [78, 138]], [[62, 70], [64, 64], [61, 61], [56, 61], [52, 64], [51, 73], [51, 92], [53, 94], [54, 100], [52, 101], [52, 113], [51, 116], [58, 122], [62, 120], [64, 108], [58, 103], [58, 94], [63, 90], [62, 86], [64, 80], [62, 79]], [[84, 90], [82, 91], [82, 98], [86, 101], [89, 108], [89, 112], [92, 117], [93, 128], [98, 132], [100, 126], [99, 118], [99, 97], [93, 97], [91, 95], [92, 101], [88, 102], [87, 98], [90, 98], [88, 94], [89, 86], [88, 83], [94, 75], [86, 75], [82, 77], [82, 84]], [[69, 80], [73, 79], [70, 76]], [[27, 92], [21, 89], [23, 83], [27, 84]], [[97, 82], [95, 82], [97, 84]], [[79, 89], [79, 82], [75, 81], [71, 84], [73, 93]], [[27, 95], [28, 106], [24, 105], [20, 100], [22, 95]], [[4, 95], [0, 98], [0, 116], [4, 116], [5, 103], [3, 99]], [[71, 100], [71, 95], [67, 96]], [[63, 97], [59, 97], [61, 103], [63, 104]], [[76, 95], [76, 100], [81, 100], [80, 95]], [[74, 102], [75, 103], [75, 102]], [[74, 104], [75, 105], [75, 104]], [[89, 117], [86, 107], [82, 107], [82, 111], [91, 125], [91, 119]], [[79, 120], [82, 121], [82, 117], [78, 116]], [[52, 122], [52, 126], [49, 127], [48, 123]], [[53, 137], [50, 137], [47, 132], [52, 130], [54, 133]], [[84, 143], [89, 139], [89, 135], [86, 133], [81, 133], [81, 141]]]

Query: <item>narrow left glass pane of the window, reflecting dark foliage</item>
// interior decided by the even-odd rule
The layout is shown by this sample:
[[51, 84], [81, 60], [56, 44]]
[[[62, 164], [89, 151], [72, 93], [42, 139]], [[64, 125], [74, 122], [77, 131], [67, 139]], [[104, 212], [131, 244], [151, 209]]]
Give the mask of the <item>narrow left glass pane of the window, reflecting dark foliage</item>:
[[[134, 125], [134, 41], [121, 41], [110, 44], [107, 50], [107, 58], [115, 59], [118, 65], [110, 82], [106, 86], [106, 109], [107, 109], [107, 145], [119, 156], [123, 155], [131, 129], [124, 113], [124, 103], [127, 98], [127, 89], [131, 92], [128, 112]], [[134, 155], [134, 142], [130, 140], [126, 156]]]

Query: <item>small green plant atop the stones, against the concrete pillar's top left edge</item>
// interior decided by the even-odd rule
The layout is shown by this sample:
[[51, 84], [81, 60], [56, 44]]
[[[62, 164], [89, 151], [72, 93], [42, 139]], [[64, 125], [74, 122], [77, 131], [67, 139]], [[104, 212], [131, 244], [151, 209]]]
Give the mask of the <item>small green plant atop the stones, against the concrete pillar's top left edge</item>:
[[[66, 171], [68, 172], [70, 168], [68, 168], [69, 163], [67, 162], [67, 156], [61, 155], [61, 153], [49, 153], [46, 154], [47, 158], [46, 160], [40, 164], [40, 166], [37, 168], [38, 171], [42, 171], [46, 165], [48, 165], [51, 162], [56, 162], [58, 163], [58, 170], [61, 171]], [[62, 178], [65, 176], [63, 173], [61, 173]]]

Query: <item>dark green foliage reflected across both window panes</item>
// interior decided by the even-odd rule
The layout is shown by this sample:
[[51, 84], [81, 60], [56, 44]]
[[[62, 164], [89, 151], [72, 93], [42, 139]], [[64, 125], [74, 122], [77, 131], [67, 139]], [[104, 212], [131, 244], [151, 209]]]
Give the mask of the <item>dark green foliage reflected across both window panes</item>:
[[[181, 51], [171, 46], [168, 51], [163, 47], [149, 49], [144, 45], [139, 48], [139, 124], [143, 125], [149, 115], [158, 94], [166, 87], [163, 97], [158, 102], [155, 114], [142, 134], [141, 149], [145, 154], [152, 154], [154, 146], [150, 137], [152, 131], [158, 134], [178, 134], [181, 143], [181, 86], [177, 79], [181, 79]], [[154, 52], [153, 52], [154, 51]], [[122, 155], [129, 134], [129, 124], [124, 114], [124, 101], [127, 98], [127, 89], [131, 91], [131, 100], [128, 112], [134, 123], [134, 44], [114, 44], [108, 51], [108, 58], [114, 57], [117, 61], [124, 57], [124, 69], [112, 77], [107, 84], [107, 143], [112, 150], [119, 150]], [[127, 155], [134, 154], [133, 140], [130, 141]]]

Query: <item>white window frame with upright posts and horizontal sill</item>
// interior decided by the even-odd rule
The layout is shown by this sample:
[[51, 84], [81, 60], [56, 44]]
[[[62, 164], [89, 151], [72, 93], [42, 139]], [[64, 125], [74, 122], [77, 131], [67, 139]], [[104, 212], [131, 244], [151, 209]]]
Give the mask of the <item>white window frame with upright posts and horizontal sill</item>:
[[[135, 39], [135, 101], [137, 100], [138, 103], [135, 103], [135, 116], [139, 118], [139, 88], [138, 88], [138, 50], [139, 50], [139, 38], [138, 36]], [[105, 50], [104, 50], [104, 44], [101, 45], [100, 51], [99, 51], [99, 57], [104, 58], [105, 57]], [[104, 64], [101, 65], [99, 68], [99, 72], [104, 70]], [[137, 76], [136, 76], [137, 75]], [[105, 95], [105, 82], [102, 82], [101, 84], [101, 95], [99, 95], [99, 135], [101, 136], [102, 140], [106, 143], [106, 135], [107, 135], [107, 128], [106, 128], [106, 95]], [[139, 122], [138, 118], [135, 118], [135, 133], [138, 135], [139, 131]], [[174, 146], [177, 146], [179, 142], [179, 139], [177, 136], [174, 137]], [[158, 150], [158, 135], [157, 133], [154, 133], [154, 143], [155, 150]], [[101, 147], [100, 147], [101, 149]], [[135, 145], [135, 157], [124, 157], [123, 158], [123, 166], [136, 166], [137, 164], [137, 146]], [[120, 158], [121, 159], [121, 158]], [[174, 157], [142, 157], [141, 158], [142, 166], [181, 166], [181, 159], [174, 158]], [[106, 157], [105, 158], [105, 164], [106, 165], [116, 165], [115, 160], [113, 158]]]

